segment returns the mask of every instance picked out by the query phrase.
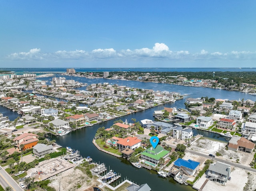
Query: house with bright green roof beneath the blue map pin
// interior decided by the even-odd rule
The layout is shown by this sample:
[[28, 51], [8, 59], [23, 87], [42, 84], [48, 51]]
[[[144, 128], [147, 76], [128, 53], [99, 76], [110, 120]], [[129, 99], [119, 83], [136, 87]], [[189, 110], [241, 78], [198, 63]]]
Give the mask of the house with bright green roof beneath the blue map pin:
[[156, 146], [154, 149], [153, 147], [144, 150], [140, 157], [142, 160], [146, 161], [147, 164], [152, 166], [158, 165], [160, 158], [166, 159], [169, 155], [169, 151], [162, 148], [160, 145]]

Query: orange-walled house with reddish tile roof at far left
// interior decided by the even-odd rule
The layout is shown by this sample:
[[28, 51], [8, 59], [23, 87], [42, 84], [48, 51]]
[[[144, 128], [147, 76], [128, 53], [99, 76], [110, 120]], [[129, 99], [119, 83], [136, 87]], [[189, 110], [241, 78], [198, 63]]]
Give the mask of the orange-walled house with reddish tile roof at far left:
[[16, 137], [13, 141], [15, 146], [17, 146], [20, 150], [20, 145], [23, 145], [24, 147], [22, 150], [33, 148], [37, 143], [38, 139], [36, 138], [38, 135], [33, 133], [24, 133], [18, 137]]

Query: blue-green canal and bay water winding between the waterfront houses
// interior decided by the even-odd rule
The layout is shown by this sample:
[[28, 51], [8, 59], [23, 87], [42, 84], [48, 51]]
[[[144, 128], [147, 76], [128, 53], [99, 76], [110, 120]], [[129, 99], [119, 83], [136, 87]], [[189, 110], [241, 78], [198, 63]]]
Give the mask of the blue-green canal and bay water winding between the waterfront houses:
[[[67, 79], [71, 79], [70, 76], [63, 76]], [[136, 87], [140, 89], [153, 89], [153, 90], [167, 90], [167, 91], [176, 91], [181, 94], [190, 94], [187, 97], [202, 97], [208, 96], [222, 99], [230, 99], [230, 100], [238, 100], [239, 98], [242, 100], [251, 99], [255, 101], [256, 96], [248, 95], [245, 93], [234, 92], [234, 91], [224, 91], [219, 89], [208, 89], [201, 87], [186, 87], [179, 85], [170, 85], [170, 84], [162, 84], [162, 83], [143, 83], [139, 81], [117, 81], [110, 79], [86, 79], [86, 78], [78, 78], [72, 77], [75, 81], [80, 81], [82, 83], [112, 83], [118, 85], [127, 85], [128, 87]], [[41, 79], [47, 80], [47, 79]], [[48, 79], [49, 80], [49, 79]], [[78, 89], [86, 89], [86, 87], [80, 87]], [[186, 97], [184, 97], [186, 98]], [[84, 157], [90, 156], [94, 161], [100, 163], [106, 163], [106, 166], [109, 166], [110, 169], [113, 169], [116, 173], [120, 173], [122, 179], [127, 177], [134, 181], [134, 183], [143, 184], [148, 183], [148, 185], [154, 191], [160, 190], [176, 190], [176, 191], [190, 191], [193, 190], [189, 186], [179, 185], [172, 178], [162, 178], [157, 175], [155, 171], [148, 171], [146, 169], [136, 169], [125, 159], [119, 159], [114, 156], [110, 156], [104, 152], [100, 152], [96, 147], [92, 144], [92, 140], [98, 128], [104, 126], [105, 128], [109, 128], [115, 120], [128, 120], [128, 122], [132, 122], [132, 118], [135, 118], [137, 121], [142, 119], [152, 119], [154, 120], [152, 114], [154, 110], [162, 110], [164, 107], [176, 107], [176, 108], [185, 108], [184, 99], [178, 100], [175, 103], [168, 103], [165, 105], [157, 106], [154, 108], [150, 108], [148, 110], [143, 110], [142, 112], [136, 112], [127, 116], [123, 116], [121, 118], [117, 118], [114, 120], [109, 120], [107, 122], [102, 122], [101, 124], [96, 124], [91, 127], [86, 127], [65, 136], [52, 136], [52, 139], [55, 139], [56, 142], [63, 147], [70, 146], [72, 149], [79, 150], [80, 154]], [[8, 112], [9, 111], [9, 112]], [[10, 120], [12, 118], [17, 117], [17, 113], [8, 110], [5, 107], [0, 106], [0, 112], [4, 113], [4, 115], [8, 115]], [[216, 140], [221, 140], [227, 142], [225, 138], [220, 137], [218, 134], [204, 132], [202, 130], [193, 130], [194, 134], [204, 134], [205, 137], [209, 137]]]

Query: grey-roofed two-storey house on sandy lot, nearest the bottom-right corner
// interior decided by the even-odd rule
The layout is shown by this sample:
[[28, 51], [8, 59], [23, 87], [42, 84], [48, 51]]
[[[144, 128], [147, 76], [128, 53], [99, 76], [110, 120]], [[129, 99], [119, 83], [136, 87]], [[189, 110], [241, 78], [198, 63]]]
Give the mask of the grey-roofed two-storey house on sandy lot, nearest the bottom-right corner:
[[226, 185], [226, 182], [230, 177], [230, 173], [231, 165], [216, 161], [216, 163], [210, 164], [209, 170], [207, 171], [207, 178]]

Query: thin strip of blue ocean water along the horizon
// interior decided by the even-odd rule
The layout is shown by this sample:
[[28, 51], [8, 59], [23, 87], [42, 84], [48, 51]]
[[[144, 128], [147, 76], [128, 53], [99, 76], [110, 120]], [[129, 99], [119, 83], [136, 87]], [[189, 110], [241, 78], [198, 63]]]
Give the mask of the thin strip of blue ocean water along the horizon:
[[[251, 68], [74, 68], [76, 72], [112, 72], [112, 71], [139, 71], [139, 72], [216, 72], [216, 71], [256, 71], [256, 67]], [[66, 72], [66, 68], [0, 68], [0, 70], [13, 71], [14, 73], [28, 72]]]

